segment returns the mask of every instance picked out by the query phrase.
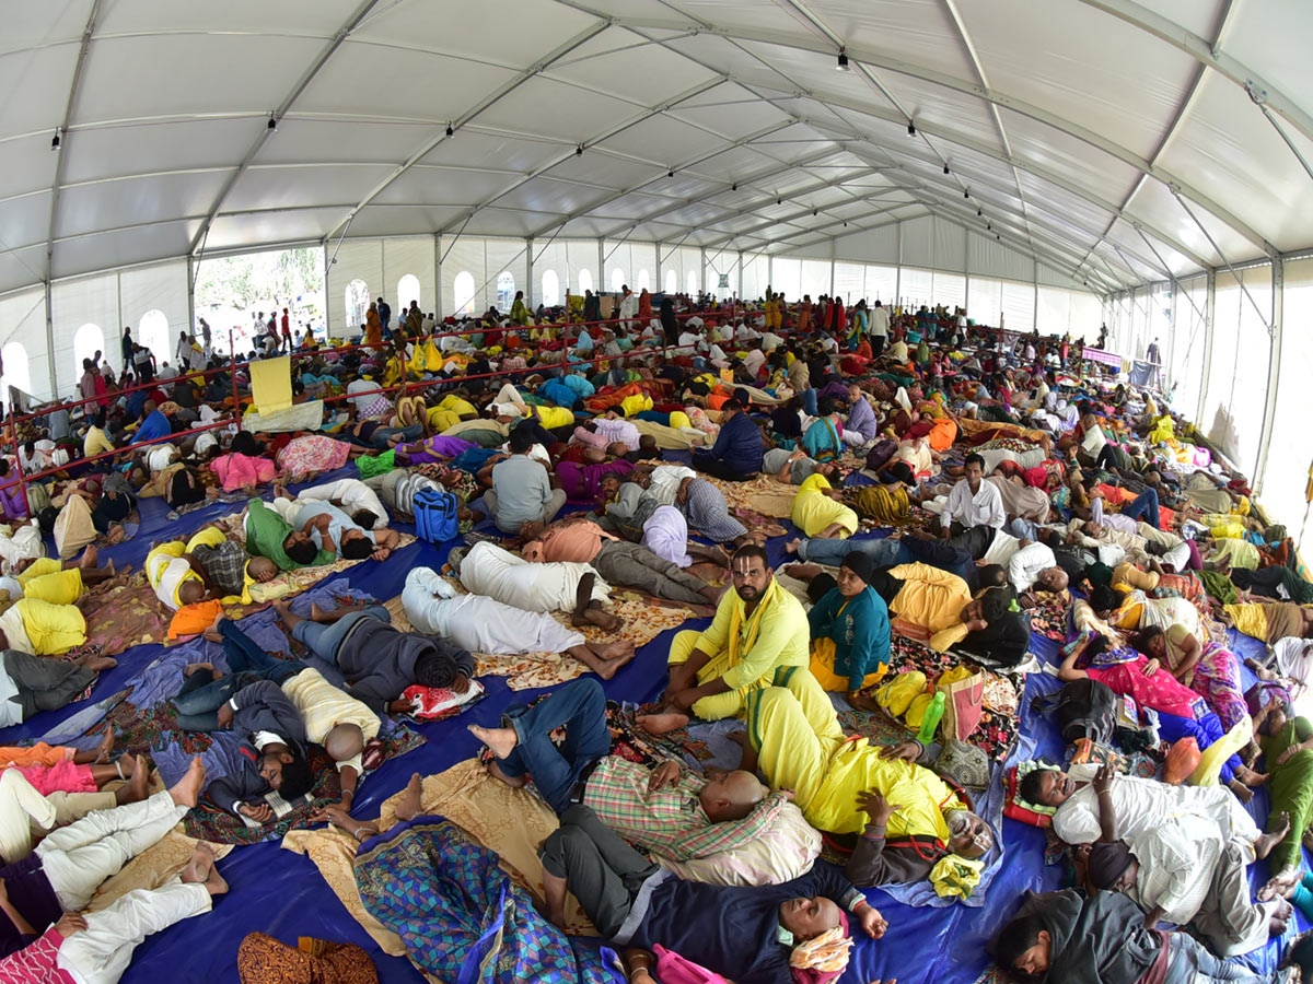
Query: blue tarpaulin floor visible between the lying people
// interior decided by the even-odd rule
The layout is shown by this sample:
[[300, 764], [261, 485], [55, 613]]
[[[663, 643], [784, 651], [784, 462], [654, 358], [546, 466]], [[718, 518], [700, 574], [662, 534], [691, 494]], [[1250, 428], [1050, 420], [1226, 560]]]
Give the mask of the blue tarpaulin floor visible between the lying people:
[[[355, 468], [349, 468], [320, 480], [353, 474]], [[102, 555], [113, 558], [116, 563], [139, 565], [154, 541], [189, 535], [218, 516], [240, 508], [240, 504], [207, 506], [169, 522], [160, 500], [146, 500], [142, 505], [142, 530], [137, 538], [104, 550]], [[403, 523], [397, 527], [414, 531]], [[769, 544], [771, 558], [776, 564], [785, 559], [784, 542], [785, 538], [776, 538]], [[415, 543], [397, 551], [383, 563], [368, 560], [340, 576], [353, 588], [377, 598], [391, 598], [400, 593], [411, 567], [439, 567], [450, 546]], [[684, 627], [700, 627], [708, 621], [695, 619]], [[672, 634], [674, 630], [639, 649], [634, 663], [605, 684], [608, 697], [632, 702], [654, 698], [664, 681], [666, 653]], [[1249, 655], [1262, 647], [1251, 639], [1237, 636], [1237, 648]], [[93, 699], [121, 689], [127, 678], [148, 665], [161, 651], [163, 647], [159, 646], [140, 646], [119, 656], [119, 665], [101, 676]], [[1041, 659], [1052, 660], [1056, 647], [1036, 636], [1032, 651]], [[411, 773], [439, 773], [477, 752], [479, 745], [466, 731], [466, 726], [495, 726], [500, 710], [511, 701], [511, 691], [503, 678], [483, 678], [482, 682], [487, 687], [486, 699], [460, 718], [419, 724], [428, 743], [410, 754], [385, 762], [368, 777], [356, 800], [353, 813], [357, 817], [376, 816], [378, 803], [398, 792]], [[1022, 711], [1022, 747], [1028, 756], [1046, 756], [1061, 761], [1062, 748], [1054, 729], [1029, 711], [1035, 697], [1056, 686], [1056, 680], [1044, 673], [1028, 678]], [[532, 697], [533, 693], [528, 691], [528, 695]], [[516, 694], [516, 699], [523, 699], [521, 694]], [[34, 739], [83, 707], [84, 703], [72, 705], [55, 714], [38, 715], [22, 727], [0, 733], [0, 740], [14, 744]], [[1255, 796], [1251, 810], [1255, 816], [1266, 817], [1264, 794]], [[990, 886], [982, 908], [909, 908], [894, 903], [878, 890], [872, 891], [872, 903], [889, 920], [889, 933], [884, 941], [859, 943], [843, 981], [867, 984], [889, 977], [897, 977], [901, 984], [974, 981], [986, 966], [985, 941], [1011, 914], [1020, 892], [1027, 888], [1044, 891], [1060, 887], [1060, 869], [1044, 865], [1044, 834], [1040, 830], [1004, 820], [1003, 844], [1003, 870]], [[125, 984], [155, 984], [161, 979], [176, 984], [236, 981], [238, 943], [252, 930], [269, 933], [293, 945], [302, 935], [355, 942], [376, 958], [382, 981], [411, 984], [423, 980], [410, 963], [378, 950], [307, 858], [285, 851], [276, 842], [259, 844], [234, 850], [221, 862], [221, 871], [228, 882], [230, 892], [217, 900], [211, 913], [172, 926], [139, 946], [133, 966], [122, 979]], [[1255, 866], [1255, 882], [1263, 878], [1263, 866]], [[1268, 946], [1251, 959], [1257, 958], [1257, 962], [1267, 964], [1274, 953], [1275, 946]]]

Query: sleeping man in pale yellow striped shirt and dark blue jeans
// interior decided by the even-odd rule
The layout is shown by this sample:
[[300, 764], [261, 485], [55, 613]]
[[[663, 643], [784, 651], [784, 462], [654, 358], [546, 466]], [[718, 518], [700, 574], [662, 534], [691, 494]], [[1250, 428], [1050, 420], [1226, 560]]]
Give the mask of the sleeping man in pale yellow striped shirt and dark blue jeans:
[[231, 673], [218, 673], [210, 663], [193, 663], [186, 668], [183, 691], [173, 701], [179, 710], [179, 727], [214, 731], [226, 702], [244, 693], [249, 684], [272, 681], [295, 707], [306, 739], [323, 745], [337, 765], [341, 798], [349, 810], [356, 782], [365, 769], [365, 748], [369, 744], [377, 747], [378, 715], [302, 660], [274, 659], [222, 614], [205, 631], [205, 638], [223, 646]]

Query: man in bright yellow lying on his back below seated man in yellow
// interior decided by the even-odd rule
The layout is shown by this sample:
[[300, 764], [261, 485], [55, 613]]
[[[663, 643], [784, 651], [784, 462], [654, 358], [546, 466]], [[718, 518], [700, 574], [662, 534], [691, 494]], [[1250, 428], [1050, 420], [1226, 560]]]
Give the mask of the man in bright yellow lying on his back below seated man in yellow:
[[809, 824], [848, 841], [846, 872], [853, 884], [919, 882], [949, 854], [974, 861], [989, 851], [989, 824], [914, 761], [926, 753], [920, 743], [881, 748], [850, 740], [809, 670], [781, 676], [781, 685], [747, 698], [741, 768], [759, 769], [772, 787], [793, 790]]

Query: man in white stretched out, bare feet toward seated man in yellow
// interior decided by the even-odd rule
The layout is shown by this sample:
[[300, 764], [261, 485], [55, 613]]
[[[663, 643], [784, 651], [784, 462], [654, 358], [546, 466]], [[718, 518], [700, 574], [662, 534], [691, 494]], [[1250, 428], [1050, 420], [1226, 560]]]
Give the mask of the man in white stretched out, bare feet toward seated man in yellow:
[[[469, 563], [469, 559], [466, 559]], [[515, 656], [565, 652], [603, 680], [634, 657], [633, 643], [590, 643], [551, 615], [512, 607], [483, 594], [457, 594], [431, 567], [406, 575], [402, 609], [416, 631], [439, 635], [470, 652]]]

